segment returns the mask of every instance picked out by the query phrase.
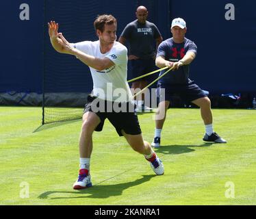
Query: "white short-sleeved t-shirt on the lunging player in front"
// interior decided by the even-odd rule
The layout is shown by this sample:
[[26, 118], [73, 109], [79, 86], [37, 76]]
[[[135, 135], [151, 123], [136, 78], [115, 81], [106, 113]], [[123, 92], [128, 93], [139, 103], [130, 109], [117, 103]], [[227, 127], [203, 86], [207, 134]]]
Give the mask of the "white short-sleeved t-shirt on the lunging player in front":
[[72, 46], [94, 57], [107, 57], [115, 64], [111, 68], [101, 71], [90, 67], [94, 96], [107, 101], [127, 102], [132, 100], [131, 90], [127, 83], [127, 48], [123, 44], [114, 42], [112, 49], [104, 54], [101, 53], [99, 40], [77, 42]]

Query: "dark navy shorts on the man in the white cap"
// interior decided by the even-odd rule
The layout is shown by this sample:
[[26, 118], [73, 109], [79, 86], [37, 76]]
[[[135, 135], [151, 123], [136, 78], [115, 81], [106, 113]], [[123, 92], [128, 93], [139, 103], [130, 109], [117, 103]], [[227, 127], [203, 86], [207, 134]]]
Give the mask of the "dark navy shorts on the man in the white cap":
[[[165, 100], [170, 101], [172, 96], [179, 95], [181, 99], [185, 102], [192, 102], [196, 99], [206, 97], [205, 91], [203, 91], [199, 86], [192, 81], [189, 84], [168, 84], [168, 83], [157, 83], [157, 97], [160, 97], [162, 88], [165, 88]], [[161, 94], [162, 96], [162, 94]], [[161, 99], [160, 99], [161, 101]]]

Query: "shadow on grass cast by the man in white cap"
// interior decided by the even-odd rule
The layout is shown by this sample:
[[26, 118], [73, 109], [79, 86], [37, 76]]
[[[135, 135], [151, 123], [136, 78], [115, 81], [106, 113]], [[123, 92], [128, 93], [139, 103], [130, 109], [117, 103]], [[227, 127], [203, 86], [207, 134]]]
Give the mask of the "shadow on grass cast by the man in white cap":
[[204, 144], [199, 144], [199, 145], [178, 145], [178, 144], [163, 145], [158, 149], [154, 149], [154, 150], [157, 153], [162, 153], [165, 155], [170, 155], [170, 154], [179, 155], [181, 153], [190, 153], [192, 151], [195, 151], [195, 149], [192, 149], [193, 147], [211, 146], [212, 144], [215, 144], [215, 143], [205, 142]]

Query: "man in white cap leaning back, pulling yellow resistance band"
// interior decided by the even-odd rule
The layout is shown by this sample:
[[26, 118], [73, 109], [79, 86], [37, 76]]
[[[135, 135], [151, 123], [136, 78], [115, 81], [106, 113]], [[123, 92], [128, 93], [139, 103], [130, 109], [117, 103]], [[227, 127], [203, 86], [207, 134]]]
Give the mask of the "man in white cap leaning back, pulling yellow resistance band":
[[[155, 60], [155, 64], [159, 68], [165, 66], [169, 68], [173, 67], [173, 71], [166, 74], [162, 79], [159, 79], [157, 84], [157, 92], [159, 94], [162, 88], [165, 89], [165, 101], [160, 102], [158, 105], [158, 118], [156, 117], [155, 120], [155, 137], [152, 146], [160, 146], [161, 131], [173, 94], [179, 94], [183, 100], [192, 102], [200, 107], [201, 116], [205, 123], [204, 141], [226, 143], [226, 140], [220, 138], [213, 130], [211, 101], [205, 92], [194, 81], [189, 79], [189, 64], [196, 57], [197, 47], [194, 42], [185, 38], [187, 31], [185, 21], [182, 18], [175, 18], [172, 21], [170, 31], [172, 38], [159, 44], [157, 58]], [[164, 72], [165, 70], [160, 75]], [[164, 115], [159, 116], [161, 112], [164, 112]]]

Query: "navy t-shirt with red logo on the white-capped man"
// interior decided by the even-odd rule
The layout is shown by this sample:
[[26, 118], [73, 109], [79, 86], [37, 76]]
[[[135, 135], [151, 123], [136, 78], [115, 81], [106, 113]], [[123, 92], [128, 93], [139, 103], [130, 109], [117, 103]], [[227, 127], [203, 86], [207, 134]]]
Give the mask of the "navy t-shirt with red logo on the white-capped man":
[[[196, 54], [197, 47], [194, 42], [185, 38], [184, 42], [176, 43], [173, 41], [173, 38], [169, 38], [159, 44], [157, 56], [164, 56], [165, 60], [170, 62], [178, 62], [188, 51], [192, 51]], [[181, 66], [178, 70], [171, 70], [169, 73], [164, 75], [164, 77], [159, 79], [159, 82], [170, 84], [188, 84], [191, 82], [191, 80], [188, 78], [189, 70], [189, 65]], [[165, 71], [166, 70], [162, 70], [159, 76], [164, 74]]]

